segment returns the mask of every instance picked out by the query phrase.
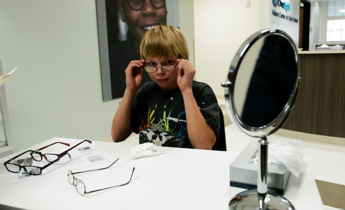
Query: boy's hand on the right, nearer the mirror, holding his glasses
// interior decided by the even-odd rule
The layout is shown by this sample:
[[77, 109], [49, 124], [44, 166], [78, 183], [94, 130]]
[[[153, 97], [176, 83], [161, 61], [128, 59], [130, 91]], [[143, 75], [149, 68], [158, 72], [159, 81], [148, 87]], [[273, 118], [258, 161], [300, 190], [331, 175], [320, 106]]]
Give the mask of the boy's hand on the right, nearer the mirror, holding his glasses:
[[177, 77], [177, 84], [181, 90], [181, 92], [192, 89], [193, 79], [195, 75], [195, 68], [193, 65], [185, 59], [177, 59], [179, 64], [177, 65], [177, 69], [179, 71]]

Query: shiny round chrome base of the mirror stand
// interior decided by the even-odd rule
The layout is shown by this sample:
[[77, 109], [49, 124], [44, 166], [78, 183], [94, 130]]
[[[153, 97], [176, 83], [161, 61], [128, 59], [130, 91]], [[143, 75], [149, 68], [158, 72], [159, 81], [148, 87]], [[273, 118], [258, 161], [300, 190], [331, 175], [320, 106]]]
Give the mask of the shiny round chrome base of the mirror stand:
[[260, 205], [259, 196], [256, 190], [246, 190], [237, 194], [229, 202], [229, 209], [249, 209], [249, 210], [269, 210], [269, 209], [289, 209], [294, 210], [295, 207], [290, 203], [289, 200], [283, 196], [274, 193], [267, 192], [264, 198], [264, 203]]

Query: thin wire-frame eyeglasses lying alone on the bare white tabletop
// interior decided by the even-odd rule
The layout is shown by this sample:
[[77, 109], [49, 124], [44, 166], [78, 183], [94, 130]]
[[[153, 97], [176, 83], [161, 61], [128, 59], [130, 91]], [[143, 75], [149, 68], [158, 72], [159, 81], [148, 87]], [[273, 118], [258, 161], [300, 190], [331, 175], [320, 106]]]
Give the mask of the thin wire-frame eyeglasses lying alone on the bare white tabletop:
[[129, 181], [124, 183], [124, 184], [120, 184], [120, 185], [116, 185], [116, 186], [112, 186], [112, 187], [107, 187], [107, 188], [102, 188], [102, 189], [98, 189], [98, 190], [92, 190], [92, 191], [88, 191], [86, 192], [86, 187], [85, 187], [85, 184], [80, 180], [80, 179], [77, 179], [75, 178], [74, 174], [77, 174], [77, 173], [83, 173], [83, 172], [89, 172], [89, 171], [94, 171], [94, 170], [103, 170], [103, 169], [107, 169], [109, 168], [110, 166], [112, 166], [114, 163], [116, 163], [116, 161], [118, 161], [119, 158], [117, 160], [115, 160], [112, 164], [110, 164], [108, 167], [105, 167], [105, 168], [98, 168], [98, 169], [93, 169], [93, 170], [85, 170], [85, 171], [79, 171], [79, 172], [72, 172], [71, 170], [68, 170], [68, 182], [71, 184], [71, 185], [74, 185], [76, 186], [76, 189], [77, 189], [77, 192], [81, 195], [85, 195], [85, 194], [88, 194], [88, 193], [93, 193], [93, 192], [98, 192], [98, 191], [101, 191], [101, 190], [107, 190], [107, 189], [110, 189], [110, 188], [115, 188], [115, 187], [121, 187], [121, 186], [124, 186], [124, 185], [127, 185], [128, 183], [130, 183], [130, 181], [132, 180], [132, 177], [133, 177], [133, 173], [134, 173], [134, 169], [135, 167], [133, 167], [132, 169], [132, 173], [130, 175], [130, 178], [129, 178]]

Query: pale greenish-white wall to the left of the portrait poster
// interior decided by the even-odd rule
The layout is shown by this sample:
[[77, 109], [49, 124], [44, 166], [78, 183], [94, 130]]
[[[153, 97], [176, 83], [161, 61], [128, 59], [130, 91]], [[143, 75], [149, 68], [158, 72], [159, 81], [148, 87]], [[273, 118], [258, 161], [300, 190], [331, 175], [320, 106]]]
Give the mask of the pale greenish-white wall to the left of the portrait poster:
[[110, 136], [118, 100], [102, 101], [95, 0], [0, 0], [0, 57], [15, 151], [54, 136]]

